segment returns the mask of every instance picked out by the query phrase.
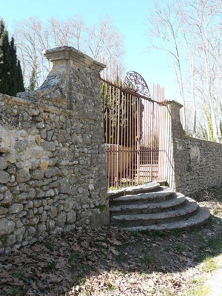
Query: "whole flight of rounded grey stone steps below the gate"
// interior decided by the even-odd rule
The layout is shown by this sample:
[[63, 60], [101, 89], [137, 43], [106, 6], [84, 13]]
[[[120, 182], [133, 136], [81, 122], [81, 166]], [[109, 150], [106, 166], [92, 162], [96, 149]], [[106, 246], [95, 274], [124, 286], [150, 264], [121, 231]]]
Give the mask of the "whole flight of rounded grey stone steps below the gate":
[[128, 187], [121, 193], [113, 191], [110, 214], [113, 225], [132, 231], [184, 229], [210, 217], [209, 210], [200, 208], [195, 200], [156, 182]]

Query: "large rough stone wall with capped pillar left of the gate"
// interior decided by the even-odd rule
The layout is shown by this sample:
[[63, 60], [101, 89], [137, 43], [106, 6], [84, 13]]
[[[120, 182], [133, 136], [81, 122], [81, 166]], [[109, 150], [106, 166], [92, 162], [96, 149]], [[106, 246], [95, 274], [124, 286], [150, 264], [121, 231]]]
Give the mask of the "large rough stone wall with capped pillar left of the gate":
[[109, 223], [100, 75], [71, 47], [47, 50], [36, 91], [0, 95], [0, 253]]

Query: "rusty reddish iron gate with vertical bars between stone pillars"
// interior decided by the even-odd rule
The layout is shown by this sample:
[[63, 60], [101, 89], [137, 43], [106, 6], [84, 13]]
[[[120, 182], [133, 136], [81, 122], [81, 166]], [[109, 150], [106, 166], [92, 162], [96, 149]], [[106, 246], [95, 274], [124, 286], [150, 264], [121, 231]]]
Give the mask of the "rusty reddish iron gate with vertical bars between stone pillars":
[[109, 190], [164, 180], [164, 89], [153, 85], [151, 96], [140, 74], [130, 71], [122, 77], [119, 66], [107, 64], [101, 74], [101, 96]]

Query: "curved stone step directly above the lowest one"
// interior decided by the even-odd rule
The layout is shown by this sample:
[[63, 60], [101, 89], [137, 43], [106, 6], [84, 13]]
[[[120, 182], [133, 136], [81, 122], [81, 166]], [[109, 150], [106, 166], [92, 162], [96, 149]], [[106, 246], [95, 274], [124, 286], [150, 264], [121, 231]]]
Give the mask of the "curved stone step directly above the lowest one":
[[111, 217], [111, 223], [120, 227], [152, 225], [164, 222], [178, 221], [193, 215], [198, 205], [192, 198], [186, 197], [184, 207], [154, 214], [119, 215]]

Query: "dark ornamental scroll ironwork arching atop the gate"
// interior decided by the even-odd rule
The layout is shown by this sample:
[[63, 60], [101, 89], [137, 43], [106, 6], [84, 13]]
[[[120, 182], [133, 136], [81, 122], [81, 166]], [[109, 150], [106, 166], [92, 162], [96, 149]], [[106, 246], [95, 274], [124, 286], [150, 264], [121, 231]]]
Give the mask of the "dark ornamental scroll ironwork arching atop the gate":
[[128, 71], [123, 83], [125, 87], [130, 87], [133, 92], [150, 98], [148, 85], [139, 73], [135, 71]]

